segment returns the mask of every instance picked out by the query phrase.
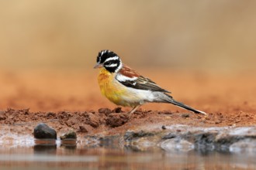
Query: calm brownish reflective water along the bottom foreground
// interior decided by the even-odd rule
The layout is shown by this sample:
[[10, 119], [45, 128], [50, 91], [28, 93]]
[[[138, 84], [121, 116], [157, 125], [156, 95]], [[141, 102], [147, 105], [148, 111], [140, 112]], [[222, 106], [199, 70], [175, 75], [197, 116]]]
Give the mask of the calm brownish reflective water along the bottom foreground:
[[137, 151], [129, 146], [56, 144], [0, 147], [0, 169], [256, 169], [253, 153]]

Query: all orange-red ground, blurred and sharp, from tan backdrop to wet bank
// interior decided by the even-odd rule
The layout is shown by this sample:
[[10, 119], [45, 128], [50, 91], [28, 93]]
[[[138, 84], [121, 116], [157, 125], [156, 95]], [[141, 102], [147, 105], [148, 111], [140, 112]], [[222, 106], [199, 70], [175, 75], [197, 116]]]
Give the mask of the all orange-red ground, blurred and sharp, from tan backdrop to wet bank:
[[[128, 120], [99, 92], [98, 70], [0, 72], [0, 123], [33, 131], [46, 122], [58, 132], [115, 134], [149, 125], [256, 125], [256, 80], [250, 74], [188, 73], [142, 70], [172, 96], [208, 115], [193, 114], [171, 104], [146, 104]], [[100, 108], [109, 109], [100, 109]], [[29, 109], [29, 110], [28, 110]]]

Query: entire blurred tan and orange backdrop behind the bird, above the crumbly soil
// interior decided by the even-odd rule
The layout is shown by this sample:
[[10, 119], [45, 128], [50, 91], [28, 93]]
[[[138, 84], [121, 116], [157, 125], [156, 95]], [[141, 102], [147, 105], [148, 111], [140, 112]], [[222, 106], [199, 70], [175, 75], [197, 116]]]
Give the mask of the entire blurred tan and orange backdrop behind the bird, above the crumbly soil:
[[0, 1], [0, 108], [115, 107], [92, 69], [102, 49], [199, 110], [256, 107], [255, 8], [253, 0]]

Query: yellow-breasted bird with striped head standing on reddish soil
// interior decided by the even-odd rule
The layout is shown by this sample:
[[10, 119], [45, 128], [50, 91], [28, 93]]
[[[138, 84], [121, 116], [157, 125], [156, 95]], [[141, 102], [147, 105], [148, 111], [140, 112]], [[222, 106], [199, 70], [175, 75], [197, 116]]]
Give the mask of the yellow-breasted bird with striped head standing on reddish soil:
[[195, 114], [206, 114], [175, 100], [170, 91], [164, 90], [149, 78], [126, 66], [120, 57], [105, 49], [97, 56], [95, 69], [99, 69], [98, 83], [103, 96], [112, 103], [132, 107], [131, 115], [143, 104], [168, 103], [174, 104]]

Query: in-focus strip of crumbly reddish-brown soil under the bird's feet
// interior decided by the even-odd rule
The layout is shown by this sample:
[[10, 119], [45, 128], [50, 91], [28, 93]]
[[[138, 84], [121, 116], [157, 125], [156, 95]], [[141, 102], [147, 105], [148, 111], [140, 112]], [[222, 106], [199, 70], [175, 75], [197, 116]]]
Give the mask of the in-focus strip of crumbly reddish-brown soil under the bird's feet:
[[[57, 132], [72, 129], [78, 133], [115, 134], [142, 127], [150, 124], [161, 128], [163, 125], [185, 124], [192, 126], [243, 126], [255, 124], [255, 114], [238, 112], [234, 114], [208, 114], [206, 116], [193, 113], [178, 113], [157, 110], [137, 110], [132, 117], [121, 110], [120, 107], [110, 110], [101, 108], [95, 111], [59, 111], [54, 112], [31, 112], [29, 109], [7, 109], [0, 113], [0, 124], [22, 126], [31, 133], [36, 124], [41, 122], [50, 124]], [[30, 131], [30, 132], [29, 132]]]

